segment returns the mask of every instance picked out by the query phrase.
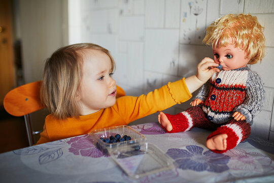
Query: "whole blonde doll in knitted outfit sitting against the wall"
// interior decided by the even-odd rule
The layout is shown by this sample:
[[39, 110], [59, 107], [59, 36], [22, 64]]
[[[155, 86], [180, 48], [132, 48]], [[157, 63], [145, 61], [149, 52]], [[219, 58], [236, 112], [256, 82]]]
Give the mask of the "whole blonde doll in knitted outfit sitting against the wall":
[[214, 62], [222, 69], [202, 85], [192, 107], [175, 115], [160, 112], [158, 121], [166, 132], [214, 130], [205, 144], [215, 153], [248, 138], [265, 97], [261, 77], [247, 66], [264, 57], [263, 29], [250, 14], [225, 15], [205, 29], [203, 44], [212, 46]]

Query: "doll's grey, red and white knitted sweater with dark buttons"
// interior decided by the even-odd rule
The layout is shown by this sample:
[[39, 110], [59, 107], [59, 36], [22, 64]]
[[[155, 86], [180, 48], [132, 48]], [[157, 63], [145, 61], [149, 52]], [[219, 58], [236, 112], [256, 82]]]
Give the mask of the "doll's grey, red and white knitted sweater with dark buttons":
[[261, 77], [244, 67], [213, 74], [195, 99], [204, 102], [202, 110], [215, 124], [226, 123], [238, 111], [252, 125], [254, 116], [262, 110], [264, 97]]

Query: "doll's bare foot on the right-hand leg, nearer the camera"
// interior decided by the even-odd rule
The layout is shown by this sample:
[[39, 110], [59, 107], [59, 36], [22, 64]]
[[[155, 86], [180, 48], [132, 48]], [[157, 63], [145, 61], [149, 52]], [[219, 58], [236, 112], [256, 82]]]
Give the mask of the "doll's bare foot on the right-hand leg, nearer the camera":
[[219, 134], [208, 139], [205, 144], [211, 150], [225, 150], [227, 147], [226, 139], [227, 134]]

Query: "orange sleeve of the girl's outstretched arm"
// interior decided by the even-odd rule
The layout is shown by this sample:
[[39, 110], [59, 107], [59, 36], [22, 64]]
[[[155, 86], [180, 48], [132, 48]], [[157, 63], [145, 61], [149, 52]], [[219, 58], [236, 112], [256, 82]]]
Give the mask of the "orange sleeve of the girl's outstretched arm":
[[189, 100], [192, 95], [185, 83], [185, 78], [168, 83], [139, 97], [124, 96], [116, 101], [114, 110], [121, 115], [126, 124], [158, 111]]

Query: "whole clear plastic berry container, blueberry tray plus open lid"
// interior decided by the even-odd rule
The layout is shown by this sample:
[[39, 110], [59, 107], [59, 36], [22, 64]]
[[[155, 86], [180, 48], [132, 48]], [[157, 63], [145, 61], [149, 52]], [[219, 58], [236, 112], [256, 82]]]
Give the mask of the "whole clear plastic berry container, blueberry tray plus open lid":
[[[107, 143], [100, 138], [110, 138], [119, 134], [131, 139], [123, 142]], [[156, 145], [148, 143], [146, 137], [128, 126], [117, 126], [93, 130], [89, 133], [96, 147], [108, 154], [131, 178], [166, 171], [174, 168], [174, 160], [165, 155]]]

